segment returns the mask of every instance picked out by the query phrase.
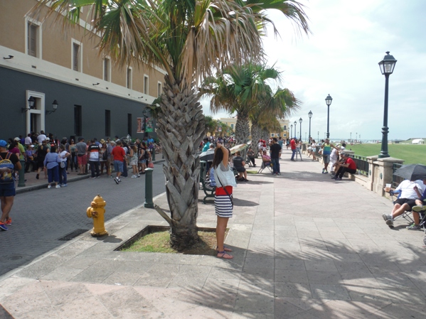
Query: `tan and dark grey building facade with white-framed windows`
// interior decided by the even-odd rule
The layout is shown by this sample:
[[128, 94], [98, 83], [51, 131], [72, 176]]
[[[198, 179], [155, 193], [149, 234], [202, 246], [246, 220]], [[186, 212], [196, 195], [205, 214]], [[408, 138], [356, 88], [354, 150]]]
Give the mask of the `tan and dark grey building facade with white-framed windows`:
[[37, 2], [0, 1], [0, 139], [41, 130], [58, 139], [143, 137], [140, 118], [161, 94], [165, 72], [143, 63], [115, 66], [96, 48], [89, 8], [63, 31], [55, 16], [28, 14]]

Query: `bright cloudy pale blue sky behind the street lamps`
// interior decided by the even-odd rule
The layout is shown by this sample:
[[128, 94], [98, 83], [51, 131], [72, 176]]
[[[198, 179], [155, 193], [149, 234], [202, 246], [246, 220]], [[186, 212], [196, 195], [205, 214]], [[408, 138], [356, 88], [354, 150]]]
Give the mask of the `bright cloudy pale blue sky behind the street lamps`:
[[[398, 62], [389, 79], [388, 139], [426, 137], [426, 36], [425, 0], [346, 1], [301, 0], [309, 17], [311, 35], [297, 36], [292, 24], [278, 12], [280, 38], [269, 28], [264, 48], [269, 65], [282, 71], [281, 87], [302, 100], [290, 122], [303, 119], [302, 136], [324, 137], [327, 121], [325, 98], [331, 94], [332, 139], [381, 139], [385, 77], [378, 63], [385, 51]], [[203, 100], [208, 111], [208, 101]], [[213, 114], [228, 117], [228, 114]], [[299, 126], [299, 124], [297, 125]]]

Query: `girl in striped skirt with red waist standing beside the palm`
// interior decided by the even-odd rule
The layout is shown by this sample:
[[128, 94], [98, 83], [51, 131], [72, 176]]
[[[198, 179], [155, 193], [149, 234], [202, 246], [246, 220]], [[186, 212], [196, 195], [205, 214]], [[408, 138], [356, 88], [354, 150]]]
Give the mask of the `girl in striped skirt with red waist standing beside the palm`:
[[233, 217], [233, 187], [237, 186], [235, 175], [228, 165], [229, 153], [228, 148], [225, 148], [220, 143], [216, 144], [215, 156], [212, 163], [216, 181], [215, 212], [218, 216], [216, 225], [218, 247], [216, 249], [218, 251], [218, 258], [223, 259], [233, 259], [233, 256], [228, 254], [232, 250], [223, 245], [228, 219]]

